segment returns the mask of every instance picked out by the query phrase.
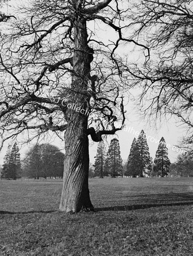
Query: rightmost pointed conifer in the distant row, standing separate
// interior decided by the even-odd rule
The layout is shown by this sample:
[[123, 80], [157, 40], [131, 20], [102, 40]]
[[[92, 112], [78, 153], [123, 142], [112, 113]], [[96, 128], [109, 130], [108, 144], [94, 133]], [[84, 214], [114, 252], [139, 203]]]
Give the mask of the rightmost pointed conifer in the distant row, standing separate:
[[168, 158], [168, 149], [166, 147], [165, 139], [162, 137], [156, 151], [156, 158], [154, 159], [155, 167], [158, 175], [162, 177], [169, 174], [170, 159]]

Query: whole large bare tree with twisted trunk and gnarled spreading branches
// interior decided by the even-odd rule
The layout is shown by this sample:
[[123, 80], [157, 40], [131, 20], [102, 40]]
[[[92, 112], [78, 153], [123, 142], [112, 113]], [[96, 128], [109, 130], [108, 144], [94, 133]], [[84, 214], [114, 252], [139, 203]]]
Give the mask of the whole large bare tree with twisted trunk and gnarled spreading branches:
[[94, 209], [89, 135], [99, 142], [124, 125], [128, 60], [118, 50], [123, 44], [144, 47], [127, 35], [128, 10], [126, 0], [29, 1], [1, 35], [3, 138], [24, 134], [29, 141], [48, 131], [65, 136], [65, 212]]

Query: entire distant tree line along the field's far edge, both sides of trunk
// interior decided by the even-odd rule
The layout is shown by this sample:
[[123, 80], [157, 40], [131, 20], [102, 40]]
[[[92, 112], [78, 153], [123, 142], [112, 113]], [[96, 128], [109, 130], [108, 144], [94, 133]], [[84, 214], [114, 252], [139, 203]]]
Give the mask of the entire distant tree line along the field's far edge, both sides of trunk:
[[[20, 160], [19, 147], [15, 142], [7, 147], [1, 171], [1, 179], [45, 179], [63, 177], [65, 155], [56, 146], [49, 143], [36, 144]], [[90, 164], [89, 176], [110, 177], [164, 177], [193, 176], [193, 159], [191, 154], [179, 155], [175, 163], [170, 163], [165, 139], [158, 144], [154, 162], [149, 154], [146, 136], [142, 130], [139, 137], [133, 139], [127, 162], [123, 164], [120, 156], [118, 139], [110, 142], [106, 152], [104, 142], [98, 144], [95, 163]]]

